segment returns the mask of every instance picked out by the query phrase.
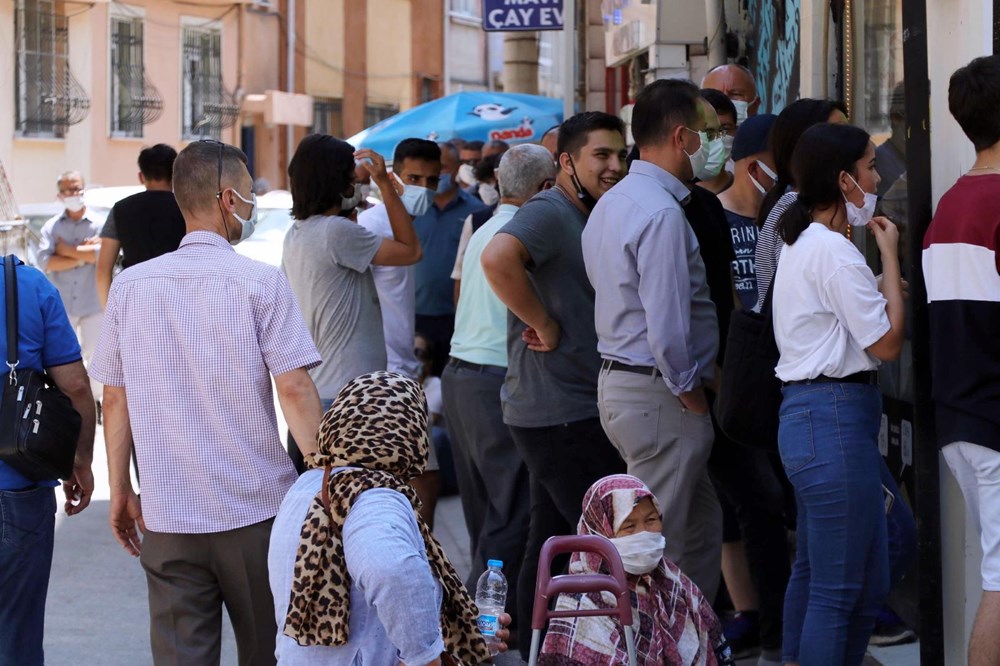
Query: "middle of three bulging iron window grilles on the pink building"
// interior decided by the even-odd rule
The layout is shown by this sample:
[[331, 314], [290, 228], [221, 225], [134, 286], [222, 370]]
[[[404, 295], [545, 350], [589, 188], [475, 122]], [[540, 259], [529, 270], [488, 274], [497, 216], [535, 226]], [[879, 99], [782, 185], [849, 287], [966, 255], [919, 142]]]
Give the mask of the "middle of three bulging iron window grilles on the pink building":
[[142, 18], [111, 17], [110, 48], [111, 134], [141, 137], [163, 114], [163, 97], [146, 76]]

